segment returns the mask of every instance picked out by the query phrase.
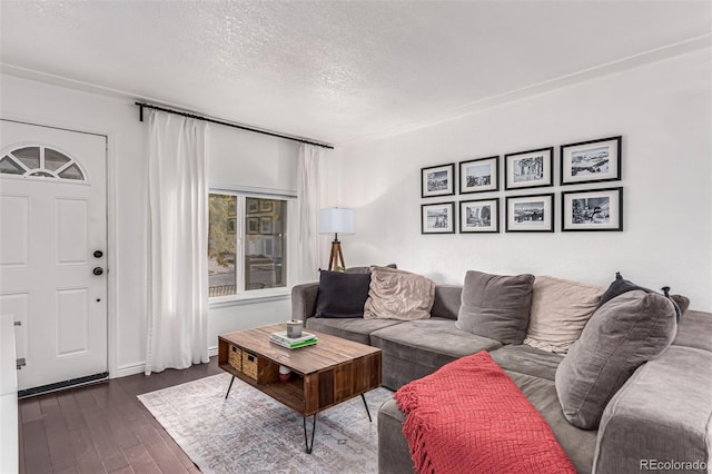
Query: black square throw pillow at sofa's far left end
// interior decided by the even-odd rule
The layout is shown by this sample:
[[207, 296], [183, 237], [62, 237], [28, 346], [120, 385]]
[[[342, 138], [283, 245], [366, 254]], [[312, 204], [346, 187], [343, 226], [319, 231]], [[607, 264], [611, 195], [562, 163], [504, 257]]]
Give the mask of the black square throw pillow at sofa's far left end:
[[364, 317], [369, 274], [319, 273], [316, 317]]

